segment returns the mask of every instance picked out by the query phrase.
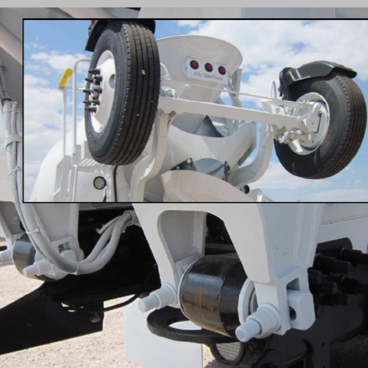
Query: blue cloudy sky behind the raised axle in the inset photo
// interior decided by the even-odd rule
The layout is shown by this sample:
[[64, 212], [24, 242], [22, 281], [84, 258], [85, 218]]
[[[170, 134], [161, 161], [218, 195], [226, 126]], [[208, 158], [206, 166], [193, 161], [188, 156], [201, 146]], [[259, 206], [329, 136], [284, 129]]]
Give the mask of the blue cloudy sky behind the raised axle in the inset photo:
[[[62, 136], [62, 96], [57, 83], [84, 52], [87, 20], [24, 21], [24, 175], [25, 200], [30, 196], [41, 163]], [[286, 66], [299, 67], [329, 60], [355, 69], [355, 82], [368, 101], [368, 23], [359, 20], [159, 20], [156, 38], [200, 34], [226, 40], [243, 55], [241, 92], [269, 95], [270, 83]], [[81, 64], [83, 65], [83, 64]], [[78, 85], [85, 85], [88, 64], [80, 68]], [[83, 97], [78, 121], [83, 121]], [[259, 103], [243, 98], [244, 107]], [[67, 129], [71, 126], [71, 93]], [[256, 152], [250, 157], [255, 156]], [[260, 188], [277, 202], [368, 202], [368, 138], [352, 163], [338, 175], [307, 180], [289, 174], [274, 153], [266, 174], [251, 189]], [[249, 160], [249, 161], [250, 161]], [[248, 161], [248, 162], [249, 162]]]

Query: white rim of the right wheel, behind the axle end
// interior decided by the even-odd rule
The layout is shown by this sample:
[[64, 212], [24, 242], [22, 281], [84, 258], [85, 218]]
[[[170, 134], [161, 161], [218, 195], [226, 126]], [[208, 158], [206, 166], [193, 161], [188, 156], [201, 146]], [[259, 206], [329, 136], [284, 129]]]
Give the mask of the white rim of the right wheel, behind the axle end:
[[[318, 132], [316, 133], [309, 133], [306, 136], [303, 136], [303, 138], [299, 138], [299, 139], [295, 139], [293, 140], [289, 146], [290, 149], [295, 152], [298, 155], [309, 155], [312, 152], [316, 151], [319, 146], [321, 145], [321, 143], [323, 142], [324, 138], [326, 137], [327, 131], [328, 131], [328, 127], [329, 127], [329, 119], [330, 119], [330, 114], [329, 114], [329, 106], [328, 103], [326, 101], [326, 99], [318, 94], [318, 93], [307, 93], [303, 96], [301, 96], [300, 98], [298, 98], [297, 100], [298, 102], [319, 102], [321, 105], [321, 109], [320, 109], [320, 121], [319, 121], [319, 127], [318, 127]], [[301, 110], [301, 115], [306, 115], [308, 114], [307, 111], [304, 111], [303, 109]]]

